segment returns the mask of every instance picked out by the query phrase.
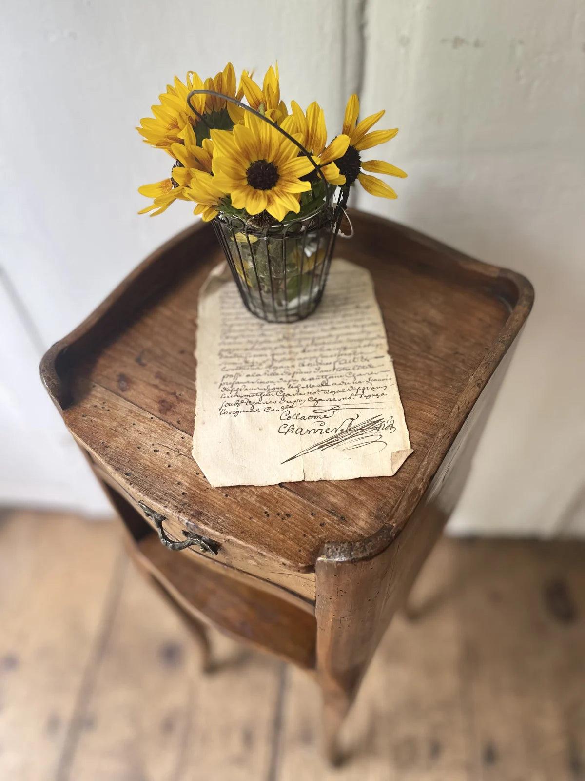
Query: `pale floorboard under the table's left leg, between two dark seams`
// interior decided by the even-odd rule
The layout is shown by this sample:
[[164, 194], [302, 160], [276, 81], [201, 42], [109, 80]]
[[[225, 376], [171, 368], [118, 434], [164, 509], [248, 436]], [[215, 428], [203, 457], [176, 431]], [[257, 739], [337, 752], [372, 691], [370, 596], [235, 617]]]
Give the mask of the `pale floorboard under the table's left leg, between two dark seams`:
[[129, 569], [69, 779], [265, 778], [278, 663], [214, 640], [225, 666], [204, 676], [189, 631]]

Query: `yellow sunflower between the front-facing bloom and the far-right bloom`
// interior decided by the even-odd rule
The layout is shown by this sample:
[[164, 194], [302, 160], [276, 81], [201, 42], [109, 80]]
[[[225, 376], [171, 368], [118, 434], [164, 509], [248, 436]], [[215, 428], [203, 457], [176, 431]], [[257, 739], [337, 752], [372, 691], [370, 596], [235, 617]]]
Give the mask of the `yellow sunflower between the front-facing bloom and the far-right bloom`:
[[[349, 136], [339, 135], [328, 146], [325, 146], [327, 128], [325, 127], [324, 112], [319, 104], [317, 102], [311, 103], [307, 114], [295, 101], [291, 101], [290, 105], [293, 112], [280, 123], [282, 130], [286, 130], [287, 133], [296, 137], [296, 140], [303, 144], [307, 152], [315, 156], [315, 162], [320, 166], [328, 182], [335, 185], [346, 184], [346, 177], [339, 172], [338, 166], [333, 161], [346, 154]], [[313, 180], [314, 176], [317, 176], [317, 173], [313, 170], [313, 173], [309, 174], [310, 180]]]

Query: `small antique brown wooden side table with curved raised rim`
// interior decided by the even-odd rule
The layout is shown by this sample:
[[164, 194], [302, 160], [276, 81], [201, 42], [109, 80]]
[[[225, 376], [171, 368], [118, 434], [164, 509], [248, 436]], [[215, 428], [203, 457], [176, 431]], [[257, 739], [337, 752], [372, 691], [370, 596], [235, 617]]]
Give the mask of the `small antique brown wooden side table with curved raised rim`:
[[374, 278], [414, 449], [394, 477], [207, 483], [190, 449], [197, 294], [222, 259], [210, 225], [151, 255], [41, 363], [135, 561], [206, 653], [208, 623], [317, 677], [334, 761], [378, 641], [461, 493], [533, 301], [519, 274], [384, 219], [352, 220], [337, 253]]

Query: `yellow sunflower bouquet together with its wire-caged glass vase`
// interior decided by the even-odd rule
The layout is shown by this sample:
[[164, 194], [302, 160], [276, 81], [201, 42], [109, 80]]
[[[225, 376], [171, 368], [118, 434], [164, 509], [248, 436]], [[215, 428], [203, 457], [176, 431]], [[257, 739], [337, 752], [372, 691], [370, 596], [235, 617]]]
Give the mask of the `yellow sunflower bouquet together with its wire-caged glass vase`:
[[398, 132], [371, 131], [383, 111], [358, 123], [352, 95], [342, 133], [328, 143], [317, 102], [305, 112], [281, 100], [278, 66], [268, 69], [262, 87], [252, 76], [244, 70], [237, 84], [230, 62], [205, 82], [193, 71], [186, 84], [175, 78], [159, 96], [154, 117], [141, 119], [137, 130], [173, 162], [167, 179], [139, 188], [152, 198], [140, 214], [192, 201], [193, 213], [213, 222], [250, 311], [291, 322], [321, 299], [349, 188], [359, 181], [373, 195], [396, 198], [371, 174], [406, 173], [361, 159]]

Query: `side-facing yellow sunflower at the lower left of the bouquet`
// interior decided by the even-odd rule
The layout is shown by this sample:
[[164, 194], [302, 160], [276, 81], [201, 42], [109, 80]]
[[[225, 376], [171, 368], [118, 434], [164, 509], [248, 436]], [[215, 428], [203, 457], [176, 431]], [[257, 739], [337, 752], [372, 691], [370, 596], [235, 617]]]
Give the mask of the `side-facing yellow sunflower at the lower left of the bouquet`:
[[153, 198], [151, 205], [141, 209], [139, 214], [152, 212], [151, 216], [154, 217], [165, 212], [178, 198], [182, 201], [198, 200], [192, 197], [191, 181], [195, 173], [206, 173], [207, 176], [210, 176], [214, 152], [213, 142], [205, 138], [203, 146], [197, 146], [195, 131], [190, 124], [187, 124], [184, 135], [183, 144], [178, 142], [171, 144], [169, 152], [176, 159], [176, 162], [172, 166], [168, 179], [154, 184], [144, 184], [143, 187], [138, 188], [141, 195]]

